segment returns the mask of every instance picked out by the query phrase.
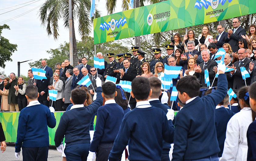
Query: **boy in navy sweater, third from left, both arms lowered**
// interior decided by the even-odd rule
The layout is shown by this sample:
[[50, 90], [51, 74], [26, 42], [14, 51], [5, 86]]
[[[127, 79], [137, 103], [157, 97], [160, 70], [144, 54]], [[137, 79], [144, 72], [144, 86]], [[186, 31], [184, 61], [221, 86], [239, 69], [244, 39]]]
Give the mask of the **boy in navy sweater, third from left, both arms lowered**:
[[[122, 119], [123, 108], [114, 100], [117, 95], [116, 85], [106, 82], [102, 85], [102, 97], [105, 98], [105, 105], [98, 108], [94, 136], [87, 161], [92, 161], [96, 152], [96, 161], [107, 161], [114, 140], [119, 131]], [[117, 160], [121, 160], [121, 155]]]

